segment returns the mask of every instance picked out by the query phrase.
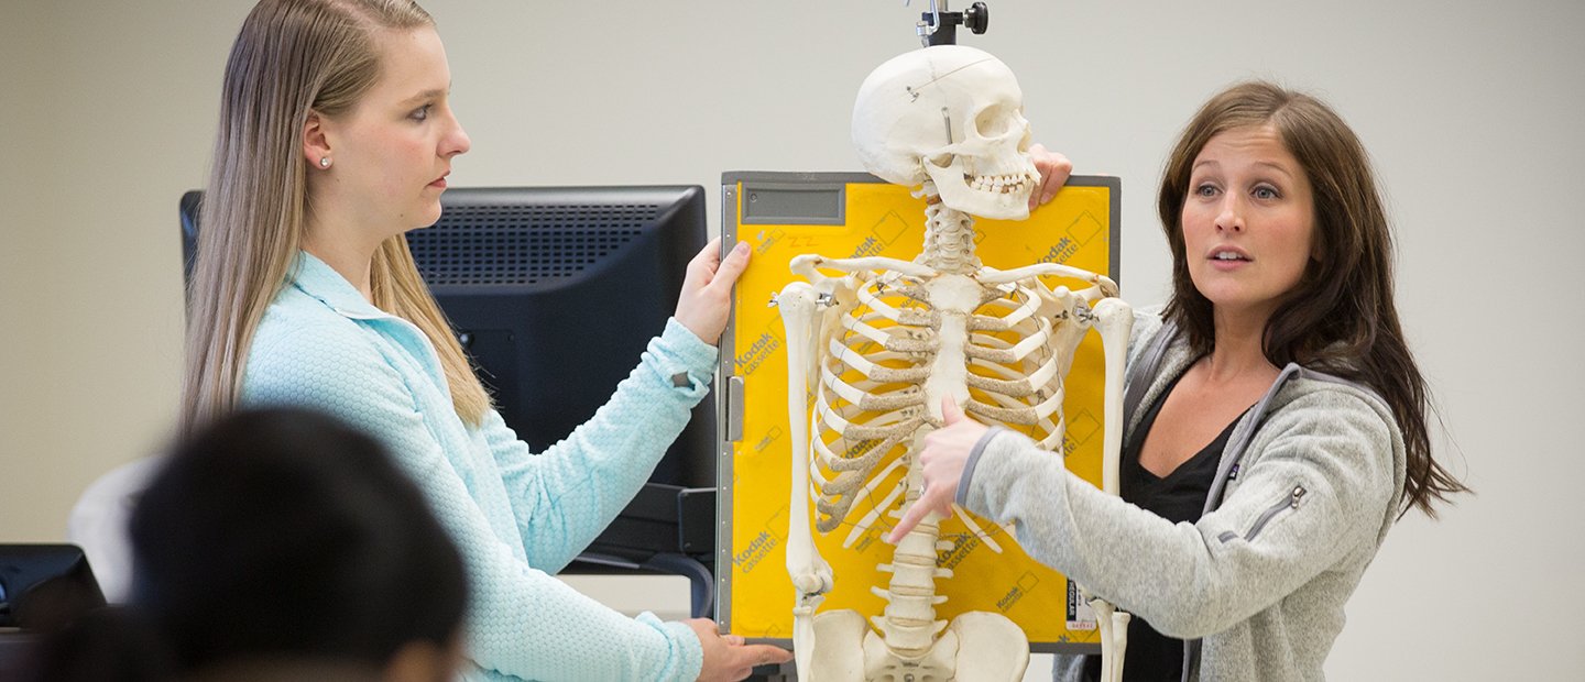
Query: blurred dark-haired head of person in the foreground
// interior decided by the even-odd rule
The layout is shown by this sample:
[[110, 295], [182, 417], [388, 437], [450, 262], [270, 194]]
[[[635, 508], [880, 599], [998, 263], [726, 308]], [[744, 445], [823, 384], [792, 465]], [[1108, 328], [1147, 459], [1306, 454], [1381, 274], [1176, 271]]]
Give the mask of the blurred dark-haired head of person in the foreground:
[[179, 446], [133, 513], [135, 604], [185, 677], [447, 679], [461, 559], [382, 446], [244, 411]]

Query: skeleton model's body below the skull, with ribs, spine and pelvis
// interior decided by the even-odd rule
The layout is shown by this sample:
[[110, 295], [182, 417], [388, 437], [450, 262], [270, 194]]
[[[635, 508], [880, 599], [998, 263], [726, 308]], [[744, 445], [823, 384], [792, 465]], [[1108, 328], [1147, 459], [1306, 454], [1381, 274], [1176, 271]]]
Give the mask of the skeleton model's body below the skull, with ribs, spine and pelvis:
[[[1117, 342], [1127, 337], [1127, 329], [1119, 334], [1114, 324], [1127, 321], [1117, 315], [1117, 304], [1106, 301], [1105, 313], [1090, 310], [1116, 296], [1110, 278], [1054, 263], [1011, 271], [981, 266], [973, 258], [967, 215], [940, 204], [930, 204], [926, 215], [927, 248], [919, 258], [794, 256], [789, 267], [807, 282], [786, 285], [777, 297], [786, 302], [788, 410], [796, 453], [788, 541], [788, 574], [797, 589], [794, 646], [805, 657], [821, 628], [823, 641], [862, 639], [867, 679], [894, 679], [899, 671], [949, 679], [968, 673], [957, 668], [961, 638], [989, 638], [976, 647], [1025, 638], [1002, 614], [970, 611], [951, 622], [935, 617], [935, 606], [946, 601], [935, 584], [953, 576], [938, 565], [938, 552], [954, 543], [941, 541], [940, 516], [934, 513], [894, 538], [891, 562], [877, 565], [892, 576], [886, 589], [870, 587], [886, 601], [883, 614], [869, 619], [870, 628], [859, 625], [851, 609], [812, 619], [835, 578], [812, 530], [826, 535], [846, 524], [851, 529], [843, 547], [851, 547], [881, 514], [907, 514], [924, 492], [913, 453], [941, 426], [935, 415], [948, 396], [981, 422], [1024, 432], [1049, 449], [1060, 446], [1064, 375], [1097, 318], [1111, 329], [1102, 335], [1106, 410], [1113, 415], [1122, 373]], [[943, 267], [948, 260], [935, 258], [935, 252], [953, 248], [957, 267]], [[1076, 293], [1051, 290], [1040, 280], [1048, 275], [1084, 286]], [[1106, 419], [1111, 424], [1114, 416]], [[1116, 451], [1110, 429], [1105, 448]], [[970, 514], [959, 519], [987, 547], [1002, 551]], [[1018, 649], [1011, 644], [1005, 654], [1016, 655]], [[799, 658], [799, 665], [812, 661]], [[1021, 671], [1022, 663], [1014, 668]], [[1016, 677], [1018, 671], [1006, 673]]]

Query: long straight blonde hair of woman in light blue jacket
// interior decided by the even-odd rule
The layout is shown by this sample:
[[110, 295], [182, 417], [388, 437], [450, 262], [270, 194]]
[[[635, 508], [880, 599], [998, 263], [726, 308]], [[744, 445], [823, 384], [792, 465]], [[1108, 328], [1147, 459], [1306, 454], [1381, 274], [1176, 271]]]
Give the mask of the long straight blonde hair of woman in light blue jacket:
[[[350, 111], [380, 74], [376, 30], [433, 27], [411, 0], [262, 0], [231, 46], [214, 166], [187, 293], [182, 432], [236, 408], [247, 348], [285, 286], [307, 212], [301, 135], [311, 111]], [[374, 305], [406, 318], [441, 356], [456, 415], [480, 424], [490, 396], [468, 366], [398, 234], [369, 267]]]

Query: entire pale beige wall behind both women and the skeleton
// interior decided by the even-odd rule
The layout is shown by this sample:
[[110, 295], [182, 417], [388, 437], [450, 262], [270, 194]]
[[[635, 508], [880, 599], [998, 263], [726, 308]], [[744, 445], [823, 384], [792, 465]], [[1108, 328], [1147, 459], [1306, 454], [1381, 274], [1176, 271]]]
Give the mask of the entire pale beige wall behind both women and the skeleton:
[[[434, 0], [474, 139], [453, 185], [853, 169], [853, 90], [910, 49], [894, 0]], [[1320, 92], [1376, 155], [1400, 305], [1480, 491], [1411, 516], [1350, 604], [1336, 679], [1580, 679], [1585, 6], [992, 2], [964, 43], [1019, 73], [1037, 138], [1124, 179], [1124, 294], [1160, 301], [1173, 133], [1217, 87]], [[203, 179], [246, 2], [0, 5], [0, 541], [60, 540], [84, 484], [174, 416], [176, 199]], [[713, 199], [712, 199], [713, 201]], [[716, 210], [712, 206], [712, 215]]]

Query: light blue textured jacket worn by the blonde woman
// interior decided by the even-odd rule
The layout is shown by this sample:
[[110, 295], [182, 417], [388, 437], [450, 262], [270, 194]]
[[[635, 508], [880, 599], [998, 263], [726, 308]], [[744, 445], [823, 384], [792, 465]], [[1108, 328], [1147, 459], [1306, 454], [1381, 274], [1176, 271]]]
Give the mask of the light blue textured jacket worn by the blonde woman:
[[552, 574], [644, 486], [704, 399], [715, 359], [669, 321], [610, 402], [534, 454], [493, 410], [466, 426], [423, 332], [301, 253], [254, 335], [241, 404], [319, 408], [385, 441], [468, 566], [466, 677], [693, 680], [693, 630], [624, 617]]

